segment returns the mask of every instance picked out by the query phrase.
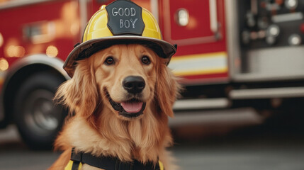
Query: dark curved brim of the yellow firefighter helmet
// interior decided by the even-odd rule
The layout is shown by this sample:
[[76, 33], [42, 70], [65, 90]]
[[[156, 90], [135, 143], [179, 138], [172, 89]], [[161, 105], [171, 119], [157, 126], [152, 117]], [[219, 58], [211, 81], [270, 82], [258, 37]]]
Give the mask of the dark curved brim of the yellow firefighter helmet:
[[69, 74], [70, 77], [73, 77], [77, 60], [90, 57], [95, 52], [117, 44], [148, 45], [148, 47], [154, 50], [159, 57], [167, 59], [166, 64], [169, 64], [172, 55], [174, 55], [176, 52], [176, 47], [174, 47], [174, 45], [156, 38], [135, 35], [116, 35], [113, 37], [96, 38], [82, 42], [77, 47], [74, 47], [72, 52], [69, 53], [67, 60], [65, 60], [63, 69], [67, 72], [67, 74]]

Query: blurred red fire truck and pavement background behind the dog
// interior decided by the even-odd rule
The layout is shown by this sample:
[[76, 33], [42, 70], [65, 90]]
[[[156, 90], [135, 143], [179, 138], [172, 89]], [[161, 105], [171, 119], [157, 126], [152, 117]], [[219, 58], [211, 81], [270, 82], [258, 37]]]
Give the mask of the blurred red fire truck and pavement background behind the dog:
[[[64, 60], [109, 0], [0, 0], [0, 169], [47, 169], [67, 111]], [[181, 169], [304, 169], [304, 1], [134, 0], [184, 86], [169, 120]]]

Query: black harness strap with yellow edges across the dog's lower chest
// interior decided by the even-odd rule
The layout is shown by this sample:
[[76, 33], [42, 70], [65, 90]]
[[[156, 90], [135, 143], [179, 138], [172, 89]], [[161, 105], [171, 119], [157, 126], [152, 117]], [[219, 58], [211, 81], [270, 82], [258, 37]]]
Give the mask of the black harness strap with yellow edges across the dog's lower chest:
[[116, 157], [94, 157], [89, 153], [74, 152], [74, 148], [72, 149], [71, 161], [64, 170], [81, 170], [82, 164], [89, 164], [90, 166], [106, 170], [164, 170], [162, 162], [158, 162], [157, 164], [153, 162], [142, 164], [137, 160], [133, 160], [133, 162], [121, 162]]

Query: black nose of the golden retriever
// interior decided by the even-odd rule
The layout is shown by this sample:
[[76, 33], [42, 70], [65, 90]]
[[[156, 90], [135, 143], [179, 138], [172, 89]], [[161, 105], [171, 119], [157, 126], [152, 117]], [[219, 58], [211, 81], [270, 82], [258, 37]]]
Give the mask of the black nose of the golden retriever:
[[145, 80], [142, 79], [142, 77], [125, 77], [123, 80], [123, 88], [127, 90], [130, 94], [138, 94], [142, 92], [142, 90], [145, 88]]

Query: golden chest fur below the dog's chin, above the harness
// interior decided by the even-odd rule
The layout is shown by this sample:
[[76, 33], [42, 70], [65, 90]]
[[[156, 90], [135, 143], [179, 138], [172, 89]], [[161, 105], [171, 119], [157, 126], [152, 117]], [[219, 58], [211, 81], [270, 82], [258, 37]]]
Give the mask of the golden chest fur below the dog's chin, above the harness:
[[[162, 154], [166, 145], [159, 142], [166, 141], [169, 145], [171, 137], [165, 137], [164, 133], [156, 135], [159, 134], [157, 132], [159, 126], [154, 125], [157, 121], [153, 119], [155, 118], [142, 118], [121, 123], [118, 119], [110, 118], [110, 122], [107, 120], [108, 125], [103, 125], [108, 128], [107, 132], [102, 132], [103, 127], [101, 127], [101, 132], [97, 132], [86, 123], [86, 120], [75, 117], [63, 133], [69, 145], [96, 156], [103, 154], [118, 157], [124, 161], [138, 159], [142, 162], [157, 162], [159, 154]], [[164, 140], [164, 138], [167, 139]]]

